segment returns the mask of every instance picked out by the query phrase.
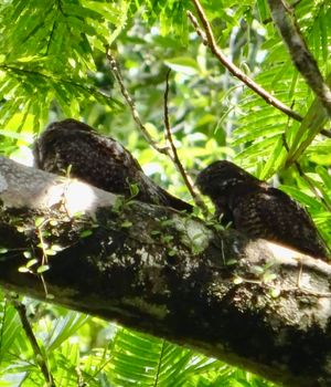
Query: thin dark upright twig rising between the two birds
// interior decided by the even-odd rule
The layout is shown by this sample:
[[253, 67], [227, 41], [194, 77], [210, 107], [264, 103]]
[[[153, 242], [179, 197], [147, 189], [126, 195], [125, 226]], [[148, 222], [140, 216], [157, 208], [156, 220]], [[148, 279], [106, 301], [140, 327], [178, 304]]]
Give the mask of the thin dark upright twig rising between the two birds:
[[171, 69], [168, 70], [167, 72], [167, 76], [166, 76], [166, 91], [164, 91], [164, 127], [166, 127], [166, 138], [168, 139], [170, 147], [171, 147], [171, 151], [172, 155], [169, 153], [170, 158], [172, 159], [173, 164], [175, 165], [177, 169], [179, 170], [179, 172], [181, 174], [185, 186], [188, 187], [195, 205], [197, 207], [201, 208], [202, 212], [206, 216], [207, 215], [207, 208], [205, 206], [205, 203], [203, 202], [203, 200], [201, 199], [200, 195], [197, 195], [193, 188], [193, 184], [190, 179], [190, 177], [188, 176], [180, 158], [177, 151], [177, 147], [173, 143], [173, 138], [172, 138], [172, 133], [171, 133], [171, 128], [170, 128], [170, 122], [169, 122], [169, 108], [168, 108], [168, 96], [169, 96], [169, 75], [171, 73]]

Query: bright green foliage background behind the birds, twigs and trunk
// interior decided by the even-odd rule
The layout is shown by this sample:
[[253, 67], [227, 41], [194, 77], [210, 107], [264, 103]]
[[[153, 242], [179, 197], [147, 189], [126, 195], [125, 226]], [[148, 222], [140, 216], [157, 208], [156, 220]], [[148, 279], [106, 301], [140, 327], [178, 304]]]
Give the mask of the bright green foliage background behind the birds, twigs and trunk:
[[[50, 121], [75, 117], [119, 139], [151, 177], [190, 200], [166, 156], [137, 130], [105, 59], [110, 44], [153, 137], [164, 143], [163, 92], [172, 70], [170, 113], [189, 174], [220, 158], [271, 178], [307, 206], [331, 245], [330, 122], [298, 74], [266, 0], [202, 2], [229, 60], [305, 116], [305, 125], [267, 105], [201, 43], [186, 19], [189, 0], [0, 0], [0, 153], [29, 163]], [[331, 4], [302, 0], [296, 17], [321, 72], [330, 74]], [[318, 198], [288, 150], [318, 188]], [[1, 294], [0, 386], [44, 380], [18, 315]], [[271, 386], [270, 383], [164, 341], [61, 307], [25, 300], [58, 386]], [[243, 343], [244, 345], [244, 343]]]

